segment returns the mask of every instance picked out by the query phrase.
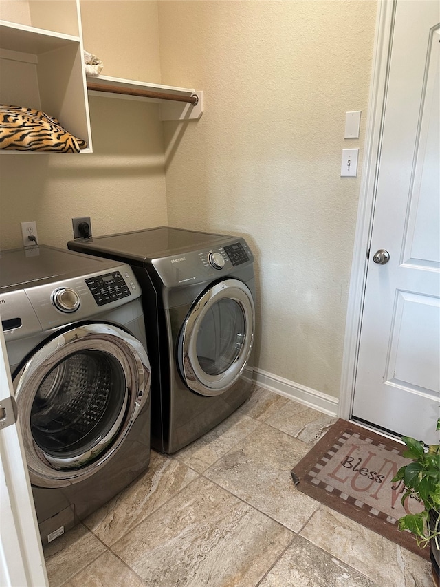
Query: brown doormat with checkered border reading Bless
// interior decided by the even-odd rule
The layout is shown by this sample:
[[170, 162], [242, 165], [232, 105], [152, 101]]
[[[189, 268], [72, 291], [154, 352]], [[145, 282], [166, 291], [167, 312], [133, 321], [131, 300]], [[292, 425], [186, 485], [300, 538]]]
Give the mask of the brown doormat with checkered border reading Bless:
[[391, 483], [410, 462], [402, 456], [405, 449], [395, 440], [338, 420], [292, 469], [292, 478], [298, 491], [429, 559], [428, 547], [419, 548], [412, 533], [397, 528], [399, 517], [423, 510], [414, 498], [402, 506], [404, 484]]

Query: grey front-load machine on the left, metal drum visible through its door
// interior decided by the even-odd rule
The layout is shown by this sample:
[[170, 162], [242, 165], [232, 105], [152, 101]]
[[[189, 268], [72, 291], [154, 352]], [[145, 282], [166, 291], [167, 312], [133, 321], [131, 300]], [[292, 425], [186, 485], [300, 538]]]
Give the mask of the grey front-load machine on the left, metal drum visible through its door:
[[0, 253], [0, 312], [43, 546], [148, 468], [150, 365], [129, 265]]

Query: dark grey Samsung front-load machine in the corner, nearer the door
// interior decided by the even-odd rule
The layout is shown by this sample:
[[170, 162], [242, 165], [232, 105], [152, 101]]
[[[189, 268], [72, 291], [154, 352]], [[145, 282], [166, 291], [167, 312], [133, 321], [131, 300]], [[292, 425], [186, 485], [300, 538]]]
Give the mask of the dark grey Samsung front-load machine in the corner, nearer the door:
[[151, 445], [174, 453], [250, 395], [254, 257], [239, 237], [158, 227], [68, 244], [130, 264], [151, 361]]

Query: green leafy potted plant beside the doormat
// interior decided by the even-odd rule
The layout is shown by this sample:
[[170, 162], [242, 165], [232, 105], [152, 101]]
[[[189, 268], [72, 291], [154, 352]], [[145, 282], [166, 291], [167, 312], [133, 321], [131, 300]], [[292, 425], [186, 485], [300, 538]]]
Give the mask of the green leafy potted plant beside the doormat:
[[[437, 420], [440, 430], [440, 418]], [[439, 585], [439, 543], [440, 543], [440, 445], [429, 445], [426, 449], [421, 440], [403, 436], [406, 451], [403, 455], [412, 459], [401, 467], [392, 482], [403, 481], [406, 491], [401, 498], [415, 498], [423, 503], [420, 513], [409, 513], [399, 519], [399, 530], [409, 530], [417, 538], [417, 544], [425, 548], [430, 544], [430, 559], [434, 583]]]

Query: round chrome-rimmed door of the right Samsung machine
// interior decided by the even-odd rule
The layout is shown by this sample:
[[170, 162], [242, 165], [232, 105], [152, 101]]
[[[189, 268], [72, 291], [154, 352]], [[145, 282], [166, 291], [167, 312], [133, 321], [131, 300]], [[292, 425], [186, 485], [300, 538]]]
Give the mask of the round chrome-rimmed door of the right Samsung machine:
[[208, 289], [181, 330], [178, 363], [186, 385], [203, 396], [229, 389], [243, 372], [254, 342], [252, 293], [238, 279]]

